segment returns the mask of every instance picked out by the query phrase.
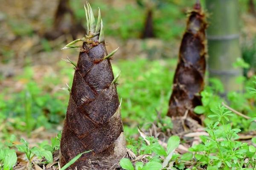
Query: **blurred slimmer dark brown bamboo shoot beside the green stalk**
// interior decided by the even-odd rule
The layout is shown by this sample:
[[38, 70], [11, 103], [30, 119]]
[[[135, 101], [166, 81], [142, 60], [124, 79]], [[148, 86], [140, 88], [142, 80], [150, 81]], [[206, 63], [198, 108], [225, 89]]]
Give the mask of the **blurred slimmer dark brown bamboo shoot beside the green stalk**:
[[[193, 110], [201, 105], [200, 92], [204, 89], [205, 57], [207, 55], [206, 28], [205, 14], [198, 2], [189, 12], [186, 31], [180, 45], [168, 116], [182, 117], [186, 113], [187, 116], [201, 123]], [[177, 126], [181, 124], [177, 123]], [[175, 125], [177, 133], [184, 130], [183, 127], [177, 126]]]

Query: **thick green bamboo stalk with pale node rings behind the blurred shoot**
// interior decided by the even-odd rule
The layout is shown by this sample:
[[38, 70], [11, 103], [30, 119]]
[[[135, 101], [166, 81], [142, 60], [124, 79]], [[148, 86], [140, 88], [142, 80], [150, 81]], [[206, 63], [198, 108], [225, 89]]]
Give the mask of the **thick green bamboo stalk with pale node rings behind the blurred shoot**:
[[238, 0], [206, 0], [209, 13], [207, 39], [209, 46], [209, 76], [221, 79], [224, 89], [240, 91], [236, 77], [242, 75], [233, 63], [241, 57], [239, 45]]

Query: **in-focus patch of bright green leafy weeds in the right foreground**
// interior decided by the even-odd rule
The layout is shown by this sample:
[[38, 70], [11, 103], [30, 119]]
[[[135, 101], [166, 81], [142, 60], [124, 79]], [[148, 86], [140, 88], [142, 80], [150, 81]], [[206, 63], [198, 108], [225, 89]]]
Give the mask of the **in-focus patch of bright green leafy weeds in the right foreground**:
[[[238, 141], [238, 128], [226, 123], [229, 117], [233, 116], [224, 106], [219, 106], [213, 110], [209, 117], [217, 117], [218, 122], [209, 124], [206, 131], [209, 136], [201, 136], [201, 144], [189, 148], [189, 152], [179, 155], [175, 149], [180, 144], [178, 136], [171, 136], [167, 142], [167, 147], [163, 148], [154, 137], [145, 137], [139, 147], [138, 154], [144, 156], [143, 161], [137, 161], [136, 170], [183, 170], [192, 166], [197, 168], [207, 168], [207, 170], [227, 170], [227, 169], [255, 169], [256, 167], [256, 147]], [[253, 139], [254, 142], [255, 139]], [[138, 144], [139, 142], [131, 142]], [[132, 148], [132, 146], [130, 146]], [[186, 164], [185, 164], [186, 163]], [[134, 164], [129, 159], [122, 159], [120, 165], [125, 170], [134, 170]]]

